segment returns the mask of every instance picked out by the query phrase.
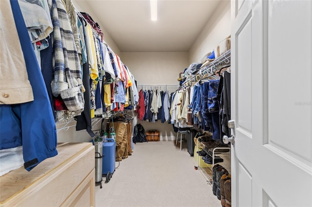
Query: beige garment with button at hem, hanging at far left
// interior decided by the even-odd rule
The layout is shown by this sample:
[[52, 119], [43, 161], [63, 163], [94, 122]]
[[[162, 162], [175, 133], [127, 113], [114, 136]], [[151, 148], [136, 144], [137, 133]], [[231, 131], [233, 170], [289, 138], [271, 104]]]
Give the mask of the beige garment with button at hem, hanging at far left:
[[[1, 2], [0, 13], [0, 104], [21, 104], [34, 100], [33, 89], [28, 80], [19, 35], [9, 1]], [[28, 34], [27, 34], [28, 37]], [[14, 55], [11, 55], [11, 54]], [[10, 66], [10, 67], [8, 67]], [[12, 81], [14, 77], [14, 81]], [[3, 94], [3, 95], [2, 95]]]

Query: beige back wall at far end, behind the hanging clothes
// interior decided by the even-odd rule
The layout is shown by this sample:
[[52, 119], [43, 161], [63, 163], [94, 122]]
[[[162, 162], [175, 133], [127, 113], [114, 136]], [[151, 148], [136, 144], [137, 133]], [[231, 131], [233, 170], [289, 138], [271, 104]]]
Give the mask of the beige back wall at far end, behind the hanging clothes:
[[[168, 87], [169, 92], [178, 88], [179, 73], [188, 67], [188, 52], [122, 52], [122, 62], [127, 65], [137, 80], [137, 87], [141, 85], [175, 85]], [[160, 132], [161, 140], [175, 140], [176, 133], [172, 124], [157, 121], [139, 121], [145, 131], [155, 129]]]

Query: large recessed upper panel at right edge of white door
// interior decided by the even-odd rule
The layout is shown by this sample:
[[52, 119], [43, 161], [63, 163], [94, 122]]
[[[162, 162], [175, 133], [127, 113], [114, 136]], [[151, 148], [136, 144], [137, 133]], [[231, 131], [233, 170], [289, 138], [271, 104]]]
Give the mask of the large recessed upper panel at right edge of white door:
[[311, 25], [311, 1], [270, 1], [268, 10], [269, 144], [311, 161], [312, 122], [303, 115], [311, 114], [312, 34], [300, 23]]

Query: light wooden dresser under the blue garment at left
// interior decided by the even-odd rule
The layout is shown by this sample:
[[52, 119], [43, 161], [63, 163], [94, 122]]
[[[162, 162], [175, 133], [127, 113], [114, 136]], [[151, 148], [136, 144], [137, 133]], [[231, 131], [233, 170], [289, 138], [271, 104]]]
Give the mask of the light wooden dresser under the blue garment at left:
[[95, 148], [59, 143], [58, 155], [30, 172], [19, 168], [0, 177], [0, 206], [95, 206]]

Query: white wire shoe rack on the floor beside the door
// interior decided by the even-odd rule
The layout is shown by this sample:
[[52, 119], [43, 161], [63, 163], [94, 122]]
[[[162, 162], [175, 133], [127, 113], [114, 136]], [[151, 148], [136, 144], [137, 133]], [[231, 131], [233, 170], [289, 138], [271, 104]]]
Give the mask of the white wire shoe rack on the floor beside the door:
[[[197, 139], [197, 152], [203, 149], [208, 155], [212, 157], [212, 164], [207, 164], [207, 167], [202, 167], [199, 163], [201, 159], [201, 156], [197, 156], [197, 170], [202, 173], [202, 175], [205, 177], [208, 184], [213, 184], [213, 167], [215, 164], [222, 165], [230, 174], [231, 174], [231, 148], [230, 147], [215, 147], [212, 152], [209, 151], [209, 149], [203, 145], [200, 141]], [[227, 151], [228, 152], [224, 152]], [[223, 159], [223, 162], [215, 163], [215, 156], [219, 156]]]

